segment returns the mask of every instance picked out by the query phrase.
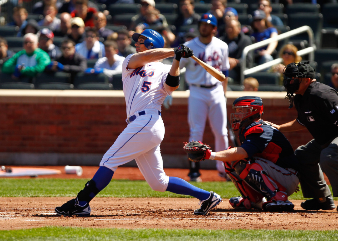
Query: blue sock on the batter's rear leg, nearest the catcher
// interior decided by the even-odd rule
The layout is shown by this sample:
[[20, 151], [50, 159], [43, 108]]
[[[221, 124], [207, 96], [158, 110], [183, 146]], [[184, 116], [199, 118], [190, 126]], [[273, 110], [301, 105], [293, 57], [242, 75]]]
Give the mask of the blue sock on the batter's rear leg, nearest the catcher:
[[210, 192], [195, 187], [185, 180], [174, 176], [169, 177], [169, 183], [166, 191], [193, 196], [199, 200], [206, 200], [210, 197]]

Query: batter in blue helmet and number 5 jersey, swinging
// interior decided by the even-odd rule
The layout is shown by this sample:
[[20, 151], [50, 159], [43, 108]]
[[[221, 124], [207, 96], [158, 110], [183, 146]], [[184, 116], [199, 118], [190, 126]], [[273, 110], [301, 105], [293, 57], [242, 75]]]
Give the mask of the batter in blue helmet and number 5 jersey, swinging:
[[[134, 33], [136, 52], [123, 62], [123, 93], [127, 105], [127, 127], [104, 154], [93, 179], [77, 197], [56, 207], [58, 215], [89, 216], [89, 202], [111, 181], [118, 166], [135, 159], [149, 186], [155, 191], [190, 195], [201, 201], [195, 215], [206, 215], [222, 198], [213, 191], [197, 188], [183, 179], [169, 177], [163, 170], [160, 144], [164, 138], [161, 105], [167, 95], [179, 87], [179, 61], [193, 52], [184, 45], [163, 48], [162, 36], [151, 29]], [[173, 57], [172, 65], [159, 62]]]

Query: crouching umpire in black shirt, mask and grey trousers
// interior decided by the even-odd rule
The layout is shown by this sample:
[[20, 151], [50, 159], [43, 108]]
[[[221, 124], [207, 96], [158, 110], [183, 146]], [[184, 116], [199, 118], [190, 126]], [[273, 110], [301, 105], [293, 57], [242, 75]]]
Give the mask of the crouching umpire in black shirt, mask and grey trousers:
[[[302, 169], [300, 185], [304, 197], [313, 197], [300, 204], [306, 210], [332, 210], [335, 204], [322, 170], [338, 196], [338, 93], [315, 79], [309, 62], [291, 63], [284, 68], [286, 98], [297, 110], [297, 118], [272, 126], [281, 131], [307, 128], [313, 140], [295, 150]], [[296, 94], [296, 95], [294, 95]], [[319, 165], [320, 164], [320, 165]], [[321, 170], [322, 168], [322, 170]], [[338, 211], [338, 209], [337, 209]]]

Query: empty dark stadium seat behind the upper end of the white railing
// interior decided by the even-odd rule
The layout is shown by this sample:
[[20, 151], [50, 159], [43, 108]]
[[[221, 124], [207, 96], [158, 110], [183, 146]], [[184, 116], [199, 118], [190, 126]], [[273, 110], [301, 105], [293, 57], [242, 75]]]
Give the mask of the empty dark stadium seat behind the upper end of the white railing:
[[[288, 15], [288, 26], [290, 29], [295, 29], [304, 25], [308, 25], [313, 30], [315, 44], [317, 47], [321, 46], [321, 29], [323, 27], [323, 15], [319, 13], [296, 13]], [[302, 33], [290, 40], [307, 40], [309, 41], [308, 34]]]

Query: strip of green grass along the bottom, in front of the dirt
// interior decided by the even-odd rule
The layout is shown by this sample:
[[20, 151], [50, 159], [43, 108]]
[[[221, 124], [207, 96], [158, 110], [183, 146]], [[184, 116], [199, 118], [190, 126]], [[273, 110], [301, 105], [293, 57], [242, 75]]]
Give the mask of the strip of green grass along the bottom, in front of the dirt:
[[81, 227], [42, 227], [28, 230], [0, 231], [1, 240], [337, 240], [338, 231], [298, 230], [166, 230]]

